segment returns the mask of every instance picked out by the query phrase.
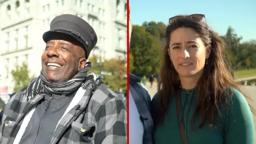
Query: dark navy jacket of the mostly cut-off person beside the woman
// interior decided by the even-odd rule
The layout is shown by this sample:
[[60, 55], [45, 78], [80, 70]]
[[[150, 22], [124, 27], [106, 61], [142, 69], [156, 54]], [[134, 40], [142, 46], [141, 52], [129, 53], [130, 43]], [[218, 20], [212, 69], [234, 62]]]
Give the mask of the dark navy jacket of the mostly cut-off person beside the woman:
[[151, 117], [151, 99], [148, 91], [140, 83], [141, 79], [135, 75], [129, 75], [130, 92], [140, 114], [143, 124], [143, 144], [153, 143], [154, 124]]

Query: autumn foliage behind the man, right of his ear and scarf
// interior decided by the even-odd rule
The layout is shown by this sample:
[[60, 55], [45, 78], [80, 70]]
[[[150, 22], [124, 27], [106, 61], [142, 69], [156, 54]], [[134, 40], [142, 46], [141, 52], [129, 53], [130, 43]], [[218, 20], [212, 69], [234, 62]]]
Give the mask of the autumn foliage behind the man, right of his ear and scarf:
[[[99, 74], [100, 70], [97, 67], [97, 57], [96, 55], [92, 55], [89, 58], [89, 61], [92, 62], [92, 69], [90, 73]], [[102, 64], [102, 63], [100, 63]], [[102, 72], [103, 75], [102, 80], [103, 82], [109, 86], [109, 88], [113, 91], [117, 91], [122, 89], [126, 91], [127, 87], [127, 61], [126, 58], [112, 58], [112, 59], [105, 59], [103, 63]]]

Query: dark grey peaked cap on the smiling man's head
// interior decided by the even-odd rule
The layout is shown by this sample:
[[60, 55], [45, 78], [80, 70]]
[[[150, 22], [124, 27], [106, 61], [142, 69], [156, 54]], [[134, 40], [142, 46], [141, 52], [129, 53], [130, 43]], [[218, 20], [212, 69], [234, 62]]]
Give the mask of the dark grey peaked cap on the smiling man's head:
[[83, 45], [86, 59], [97, 43], [97, 35], [85, 20], [76, 15], [62, 14], [55, 17], [50, 24], [50, 30], [43, 34], [44, 42], [47, 43], [53, 33], [62, 33], [75, 38]]

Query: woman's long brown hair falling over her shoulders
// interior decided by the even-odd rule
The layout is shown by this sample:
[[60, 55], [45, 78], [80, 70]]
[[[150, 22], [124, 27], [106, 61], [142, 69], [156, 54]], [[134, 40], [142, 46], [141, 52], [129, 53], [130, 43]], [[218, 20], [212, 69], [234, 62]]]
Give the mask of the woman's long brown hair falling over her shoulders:
[[[172, 31], [181, 27], [196, 30], [201, 36], [205, 46], [212, 47], [207, 62], [208, 64], [205, 65], [203, 74], [197, 82], [196, 91], [198, 101], [190, 123], [193, 122], [195, 117], [200, 116], [202, 117], [202, 122], [198, 127], [203, 127], [206, 121], [210, 121], [210, 125], [213, 125], [215, 118], [217, 118], [220, 112], [220, 108], [228, 106], [231, 102], [231, 87], [240, 92], [242, 91], [231, 74], [231, 71], [228, 69], [230, 65], [228, 57], [225, 55], [224, 49], [226, 44], [223, 39], [203, 21], [195, 21], [187, 16], [178, 18], [175, 20], [175, 23], [172, 23], [166, 28], [166, 46], [164, 49], [163, 66], [160, 72], [161, 79], [158, 84], [156, 108], [153, 116], [154, 122], [156, 125], [163, 122], [169, 103], [174, 97], [173, 93], [180, 84], [178, 73], [172, 67], [167, 50], [169, 48]], [[244, 93], [243, 95], [247, 100], [250, 100]], [[249, 106], [254, 113], [254, 109], [250, 103]]]

